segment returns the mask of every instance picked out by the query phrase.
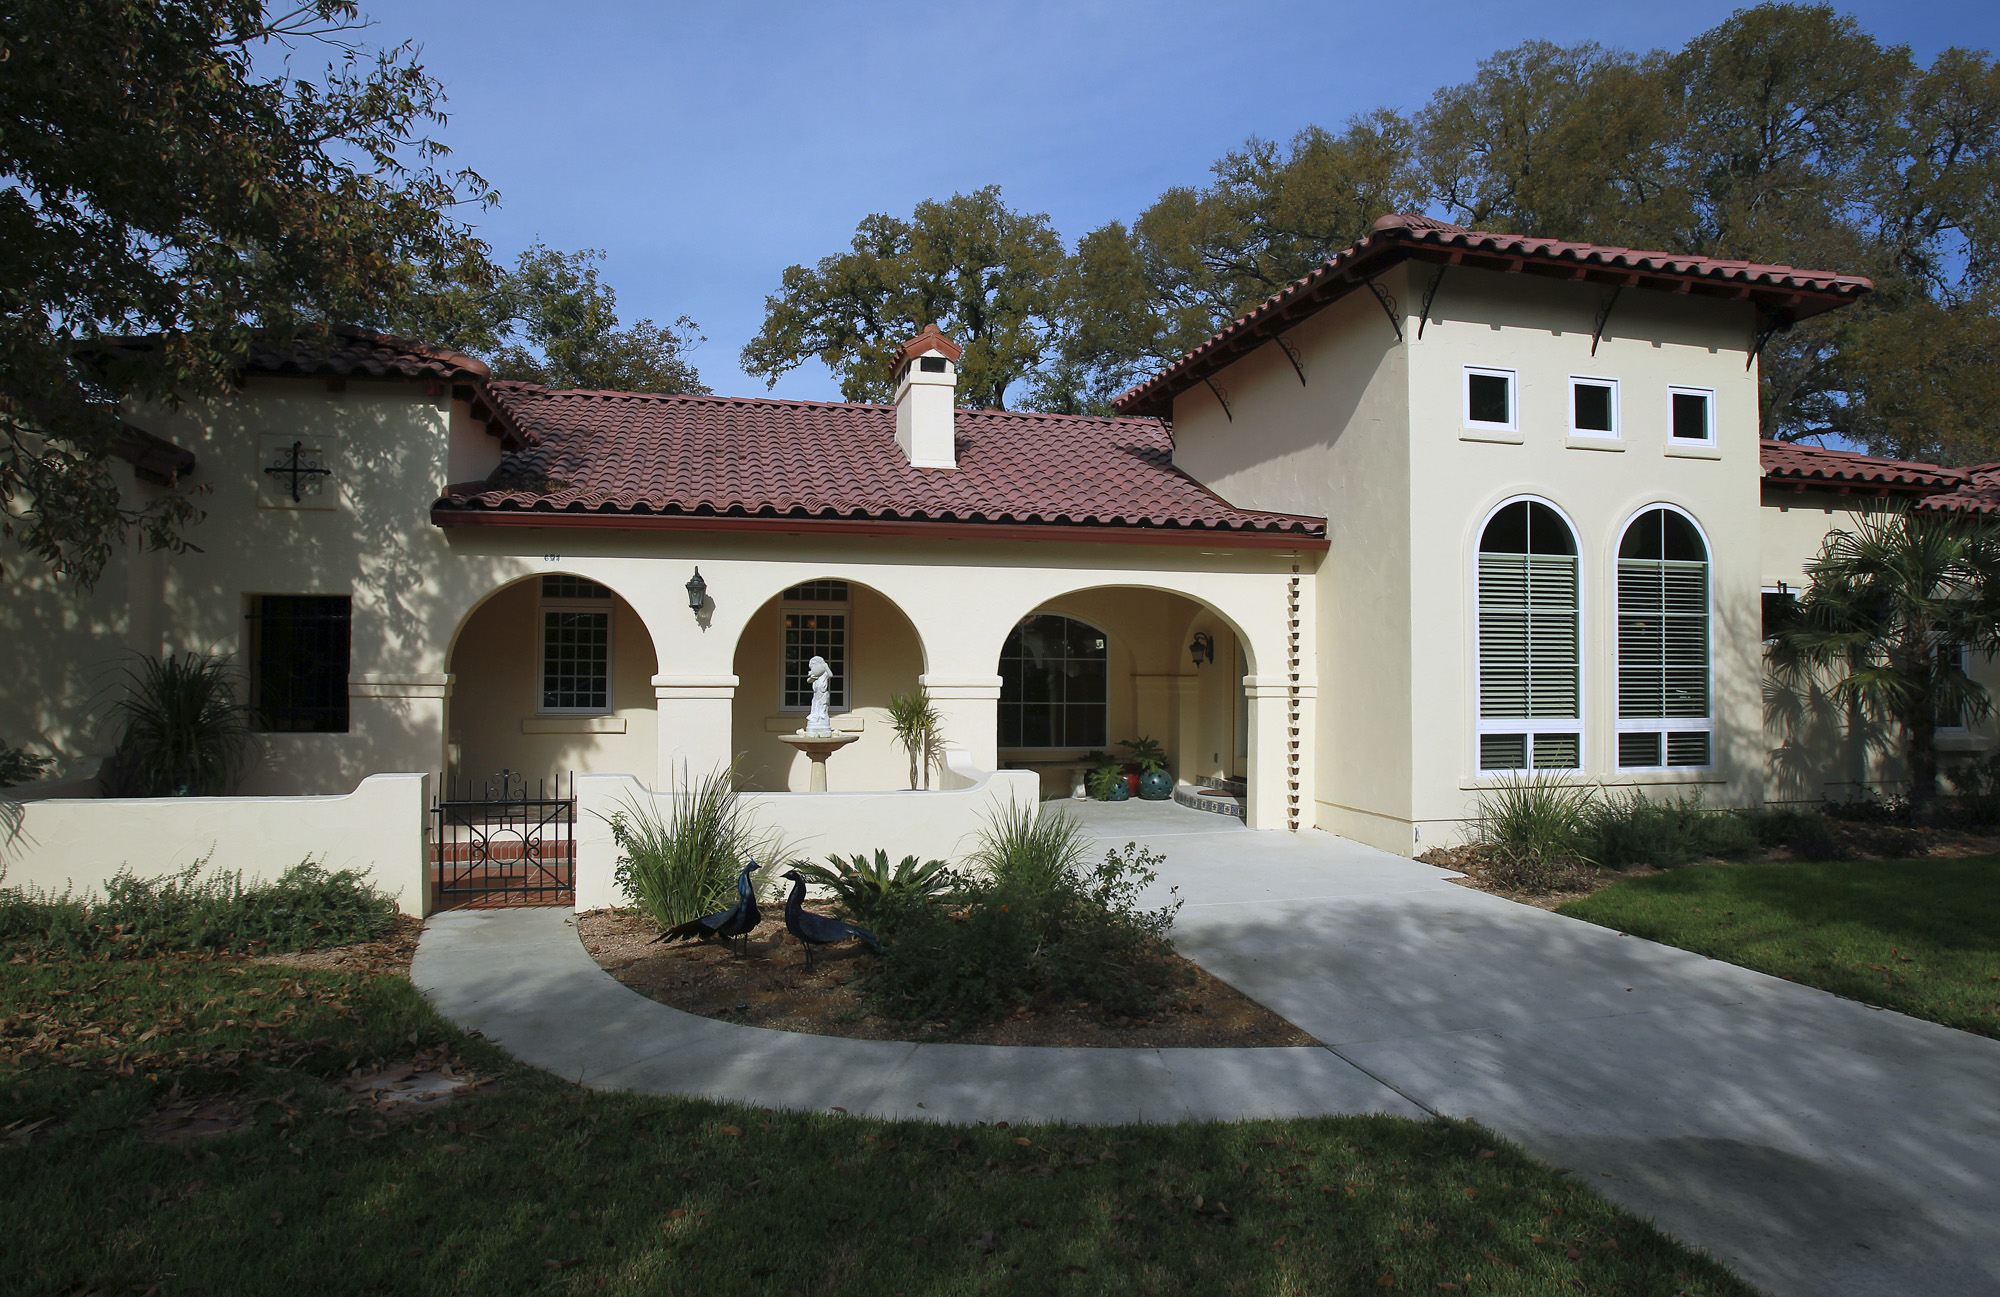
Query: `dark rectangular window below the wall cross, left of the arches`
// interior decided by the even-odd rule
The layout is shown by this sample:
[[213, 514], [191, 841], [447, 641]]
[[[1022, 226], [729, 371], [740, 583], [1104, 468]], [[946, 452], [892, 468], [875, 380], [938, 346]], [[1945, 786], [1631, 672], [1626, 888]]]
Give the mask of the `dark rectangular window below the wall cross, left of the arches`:
[[348, 733], [346, 594], [250, 596], [250, 699], [268, 733]]

